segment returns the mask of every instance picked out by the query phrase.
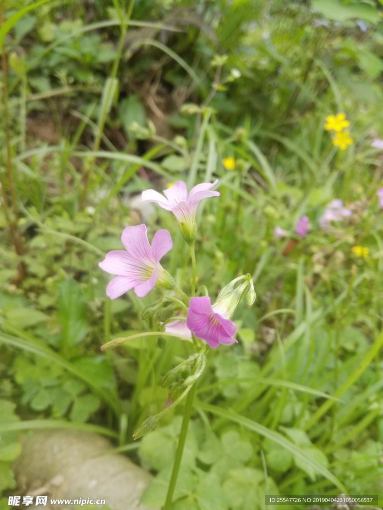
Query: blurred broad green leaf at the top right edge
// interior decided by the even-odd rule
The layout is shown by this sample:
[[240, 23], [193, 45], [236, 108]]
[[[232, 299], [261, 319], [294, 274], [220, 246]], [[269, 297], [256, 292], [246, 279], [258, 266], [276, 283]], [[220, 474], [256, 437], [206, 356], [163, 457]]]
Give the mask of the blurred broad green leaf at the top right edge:
[[361, 2], [344, 3], [342, 0], [312, 0], [312, 6], [328, 19], [346, 21], [348, 19], [363, 19], [370, 23], [380, 21], [379, 11], [372, 5]]

